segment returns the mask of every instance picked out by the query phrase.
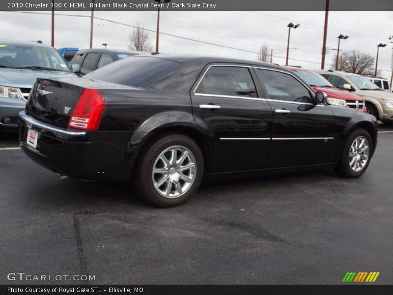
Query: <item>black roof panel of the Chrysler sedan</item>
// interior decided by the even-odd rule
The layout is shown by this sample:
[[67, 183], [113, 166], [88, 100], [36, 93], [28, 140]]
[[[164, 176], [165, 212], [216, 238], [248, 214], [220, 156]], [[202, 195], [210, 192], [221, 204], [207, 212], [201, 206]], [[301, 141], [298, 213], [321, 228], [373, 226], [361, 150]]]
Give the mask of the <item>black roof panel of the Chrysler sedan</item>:
[[157, 59], [168, 59], [176, 62], [188, 62], [191, 60], [199, 60], [203, 63], [212, 63], [212, 62], [225, 62], [225, 63], [246, 63], [260, 66], [269, 66], [278, 69], [282, 69], [283, 67], [279, 65], [275, 65], [272, 63], [261, 62], [256, 60], [247, 60], [247, 59], [233, 59], [233, 58], [225, 58], [225, 57], [215, 57], [215, 56], [203, 56], [203, 55], [185, 55], [185, 54], [172, 54], [172, 53], [159, 53], [159, 54], [151, 54], [151, 55], [141, 55], [140, 57], [153, 57]]

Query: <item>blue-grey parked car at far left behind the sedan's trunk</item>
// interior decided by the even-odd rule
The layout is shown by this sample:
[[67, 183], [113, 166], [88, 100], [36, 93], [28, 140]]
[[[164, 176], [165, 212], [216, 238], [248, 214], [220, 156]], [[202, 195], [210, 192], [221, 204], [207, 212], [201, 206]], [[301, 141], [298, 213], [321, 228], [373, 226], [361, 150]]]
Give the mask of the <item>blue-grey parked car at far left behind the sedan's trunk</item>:
[[56, 49], [36, 42], [0, 40], [0, 132], [17, 132], [37, 77], [75, 77]]

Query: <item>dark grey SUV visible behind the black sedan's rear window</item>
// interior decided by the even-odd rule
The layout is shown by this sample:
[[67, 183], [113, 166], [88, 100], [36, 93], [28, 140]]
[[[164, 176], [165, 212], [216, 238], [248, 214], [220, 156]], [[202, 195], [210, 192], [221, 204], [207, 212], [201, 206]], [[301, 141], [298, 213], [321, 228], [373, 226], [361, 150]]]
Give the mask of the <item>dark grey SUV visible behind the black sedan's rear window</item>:
[[113, 61], [141, 54], [139, 51], [115, 49], [83, 49], [71, 59], [70, 64], [79, 69], [78, 75], [86, 75]]

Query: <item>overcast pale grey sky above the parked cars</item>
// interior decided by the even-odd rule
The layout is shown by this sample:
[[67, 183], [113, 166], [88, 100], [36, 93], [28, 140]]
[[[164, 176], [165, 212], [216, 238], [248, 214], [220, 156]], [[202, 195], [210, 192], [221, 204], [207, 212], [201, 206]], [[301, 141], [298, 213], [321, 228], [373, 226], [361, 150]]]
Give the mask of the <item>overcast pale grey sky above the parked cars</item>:
[[[1, 39], [51, 43], [51, 16], [0, 11]], [[56, 11], [55, 47], [88, 48], [89, 11]], [[48, 15], [45, 15], [48, 14]], [[303, 68], [320, 69], [324, 11], [161, 11], [160, 31], [204, 42], [216, 43], [242, 50], [203, 44], [173, 36], [160, 35], [160, 52], [203, 54], [241, 59], [257, 59], [263, 43], [273, 49], [273, 62], [284, 64], [289, 22], [299, 23], [291, 29], [289, 64]], [[143, 26], [155, 31], [157, 11], [95, 11], [95, 16], [128, 25]], [[378, 69], [381, 75], [391, 75], [392, 47], [388, 37], [393, 35], [393, 11], [330, 11], [327, 47], [337, 49], [337, 36], [349, 35], [341, 40], [344, 51], [361, 50], [376, 56], [380, 48]], [[108, 21], [94, 20], [93, 47], [127, 49], [133, 28]], [[155, 32], [148, 32], [155, 48]], [[18, 37], [16, 37], [18, 36]], [[248, 52], [249, 51], [249, 52]], [[325, 68], [329, 69], [337, 51], [328, 50]], [[281, 57], [281, 58], [279, 58]], [[293, 59], [293, 60], [291, 60]], [[298, 59], [298, 60], [294, 60]]]

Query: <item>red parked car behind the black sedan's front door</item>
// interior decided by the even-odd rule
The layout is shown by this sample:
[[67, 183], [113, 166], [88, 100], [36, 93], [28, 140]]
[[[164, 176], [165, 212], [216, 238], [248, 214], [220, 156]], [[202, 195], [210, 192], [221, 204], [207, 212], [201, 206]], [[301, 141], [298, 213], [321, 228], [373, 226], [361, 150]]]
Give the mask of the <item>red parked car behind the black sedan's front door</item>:
[[335, 88], [329, 81], [314, 71], [293, 66], [287, 68], [303, 79], [314, 91], [325, 93], [328, 104], [367, 112], [365, 101], [359, 95]]

